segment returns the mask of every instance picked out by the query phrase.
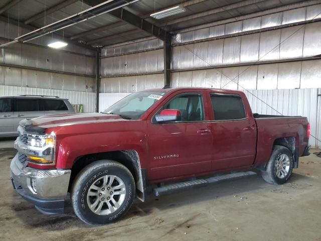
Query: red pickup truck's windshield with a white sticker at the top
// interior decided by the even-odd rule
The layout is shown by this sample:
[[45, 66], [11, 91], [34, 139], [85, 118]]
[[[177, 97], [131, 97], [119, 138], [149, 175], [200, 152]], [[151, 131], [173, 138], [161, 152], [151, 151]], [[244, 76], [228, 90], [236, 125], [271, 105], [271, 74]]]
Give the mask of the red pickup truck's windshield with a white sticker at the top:
[[139, 119], [165, 92], [136, 92], [119, 100], [102, 113], [117, 114], [124, 119]]

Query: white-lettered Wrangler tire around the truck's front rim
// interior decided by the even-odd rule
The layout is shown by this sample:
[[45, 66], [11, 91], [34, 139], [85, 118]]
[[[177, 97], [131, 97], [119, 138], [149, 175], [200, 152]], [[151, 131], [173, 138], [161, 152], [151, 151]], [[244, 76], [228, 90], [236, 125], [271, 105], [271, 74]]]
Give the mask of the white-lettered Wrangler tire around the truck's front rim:
[[[114, 212], [106, 215], [98, 215], [89, 208], [88, 205], [90, 203], [88, 204], [87, 194], [92, 184], [99, 183], [99, 180], [103, 180], [102, 177], [108, 177], [108, 175], [114, 175], [123, 181], [123, 184], [125, 185], [125, 191], [123, 192], [125, 192], [125, 195], [122, 204]], [[100, 191], [97, 191], [97, 193]], [[125, 166], [111, 160], [100, 160], [86, 166], [75, 178], [71, 190], [71, 200], [74, 212], [82, 221], [88, 224], [106, 224], [119, 219], [128, 211], [134, 197], [135, 181], [132, 174]], [[100, 197], [97, 196], [97, 199], [98, 198]], [[115, 198], [117, 198], [117, 196], [115, 196]], [[101, 200], [99, 200], [99, 203], [100, 201]], [[105, 200], [104, 202], [107, 201]], [[105, 209], [108, 209], [107, 203], [103, 205]]]

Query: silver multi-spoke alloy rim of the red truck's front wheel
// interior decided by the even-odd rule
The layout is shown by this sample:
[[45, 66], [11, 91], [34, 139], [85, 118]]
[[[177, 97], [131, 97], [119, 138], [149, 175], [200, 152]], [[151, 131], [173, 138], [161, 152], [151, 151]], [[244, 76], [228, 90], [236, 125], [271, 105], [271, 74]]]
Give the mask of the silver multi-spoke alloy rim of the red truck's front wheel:
[[114, 175], [105, 175], [97, 179], [88, 189], [89, 209], [98, 215], [109, 215], [123, 204], [126, 186], [123, 180]]

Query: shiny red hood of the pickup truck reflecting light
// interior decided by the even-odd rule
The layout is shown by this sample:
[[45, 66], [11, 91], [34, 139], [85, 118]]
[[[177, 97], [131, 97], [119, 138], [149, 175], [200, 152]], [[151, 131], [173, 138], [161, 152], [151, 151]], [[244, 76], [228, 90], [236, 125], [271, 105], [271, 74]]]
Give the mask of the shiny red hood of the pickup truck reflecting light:
[[90, 123], [102, 123], [102, 122], [106, 123], [106, 122], [118, 122], [118, 121], [126, 121], [126, 120], [121, 118], [119, 115], [114, 115], [114, 114], [70, 113], [70, 114], [44, 115], [41, 117], [33, 118], [28, 121], [28, 125], [32, 125], [34, 128], [47, 129], [47, 128], [71, 126], [71, 125], [78, 125], [78, 124], [90, 124]]

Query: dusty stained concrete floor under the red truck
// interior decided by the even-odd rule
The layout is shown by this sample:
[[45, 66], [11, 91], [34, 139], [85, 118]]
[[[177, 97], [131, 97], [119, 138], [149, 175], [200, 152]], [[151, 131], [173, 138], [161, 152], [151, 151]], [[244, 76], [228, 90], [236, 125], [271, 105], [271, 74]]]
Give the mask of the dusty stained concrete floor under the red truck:
[[15, 150], [0, 153], [0, 240], [321, 240], [321, 158], [313, 154], [300, 158], [282, 186], [265, 183], [258, 173], [158, 198], [150, 194], [118, 222], [90, 226], [70, 206], [64, 215], [39, 213], [12, 188]]

